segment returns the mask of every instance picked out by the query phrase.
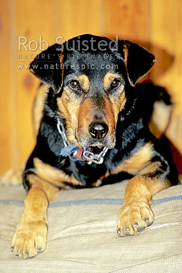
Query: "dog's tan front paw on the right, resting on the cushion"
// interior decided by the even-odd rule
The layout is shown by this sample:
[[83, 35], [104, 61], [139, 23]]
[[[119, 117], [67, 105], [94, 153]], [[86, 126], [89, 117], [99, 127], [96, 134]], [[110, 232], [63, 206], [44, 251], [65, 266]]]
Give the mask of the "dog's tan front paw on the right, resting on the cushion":
[[154, 221], [154, 214], [145, 202], [122, 205], [118, 216], [117, 232], [119, 237], [138, 235]]

